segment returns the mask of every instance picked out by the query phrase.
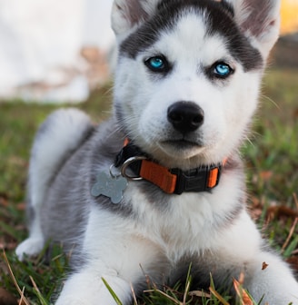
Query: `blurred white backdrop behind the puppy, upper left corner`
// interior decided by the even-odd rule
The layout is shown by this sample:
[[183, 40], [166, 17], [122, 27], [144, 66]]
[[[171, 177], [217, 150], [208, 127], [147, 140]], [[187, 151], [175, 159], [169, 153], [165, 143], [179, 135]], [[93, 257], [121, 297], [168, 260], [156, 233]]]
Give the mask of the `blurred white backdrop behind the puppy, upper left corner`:
[[0, 0], [0, 99], [80, 102], [106, 80], [112, 0]]

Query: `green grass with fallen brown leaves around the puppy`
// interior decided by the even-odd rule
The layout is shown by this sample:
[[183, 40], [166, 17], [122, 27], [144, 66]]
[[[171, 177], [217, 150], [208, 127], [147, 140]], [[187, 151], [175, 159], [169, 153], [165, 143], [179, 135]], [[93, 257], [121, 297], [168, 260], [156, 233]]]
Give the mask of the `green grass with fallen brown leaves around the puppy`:
[[[298, 203], [298, 73], [295, 70], [273, 70], [264, 79], [261, 107], [253, 124], [251, 142], [243, 147], [247, 164], [250, 207], [263, 234], [283, 257], [298, 270], [297, 227], [289, 236]], [[110, 109], [109, 87], [94, 93], [79, 108], [100, 122]], [[15, 298], [20, 290], [30, 304], [48, 304], [68, 270], [67, 257], [59, 248], [51, 258], [40, 255], [26, 263], [17, 261], [15, 246], [26, 236], [25, 183], [30, 147], [38, 125], [55, 110], [54, 105], [38, 105], [10, 101], [0, 103], [0, 287]], [[285, 244], [288, 236], [289, 241]], [[2, 260], [3, 259], [3, 260]], [[190, 274], [191, 279], [191, 274]], [[212, 280], [211, 280], [212, 285]], [[179, 285], [178, 285], [179, 286]], [[221, 296], [206, 291], [188, 291], [188, 287], [148, 287], [139, 304], [222, 304]], [[37, 289], [38, 288], [38, 291]], [[196, 293], [196, 294], [195, 294]], [[221, 292], [222, 293], [222, 292]], [[228, 296], [222, 293], [225, 301]]]

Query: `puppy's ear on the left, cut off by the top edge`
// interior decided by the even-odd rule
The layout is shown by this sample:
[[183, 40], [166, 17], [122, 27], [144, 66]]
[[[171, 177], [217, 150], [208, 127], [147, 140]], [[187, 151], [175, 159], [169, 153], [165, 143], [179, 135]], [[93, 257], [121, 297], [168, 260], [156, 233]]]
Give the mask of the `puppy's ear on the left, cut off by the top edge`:
[[154, 14], [160, 0], [114, 0], [112, 28], [118, 39]]

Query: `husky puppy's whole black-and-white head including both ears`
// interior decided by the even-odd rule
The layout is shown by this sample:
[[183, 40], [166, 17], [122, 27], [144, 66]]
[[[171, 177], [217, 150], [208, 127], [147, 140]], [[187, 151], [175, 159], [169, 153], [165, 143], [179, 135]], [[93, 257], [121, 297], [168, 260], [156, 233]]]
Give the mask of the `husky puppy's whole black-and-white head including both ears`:
[[279, 0], [115, 0], [114, 111], [165, 166], [221, 162], [243, 139]]

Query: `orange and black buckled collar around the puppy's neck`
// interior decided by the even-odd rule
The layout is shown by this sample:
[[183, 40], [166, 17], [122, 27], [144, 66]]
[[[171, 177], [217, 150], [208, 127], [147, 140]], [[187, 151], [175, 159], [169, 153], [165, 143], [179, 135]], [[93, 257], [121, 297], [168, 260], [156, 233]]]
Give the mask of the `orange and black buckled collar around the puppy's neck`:
[[[217, 165], [201, 166], [189, 171], [168, 169], [154, 162], [133, 143], [125, 141], [124, 148], [118, 153], [114, 165], [121, 166], [121, 172], [130, 180], [152, 182], [169, 194], [183, 192], [208, 192], [214, 189], [220, 180], [224, 162]], [[126, 174], [129, 168], [134, 177]]]

